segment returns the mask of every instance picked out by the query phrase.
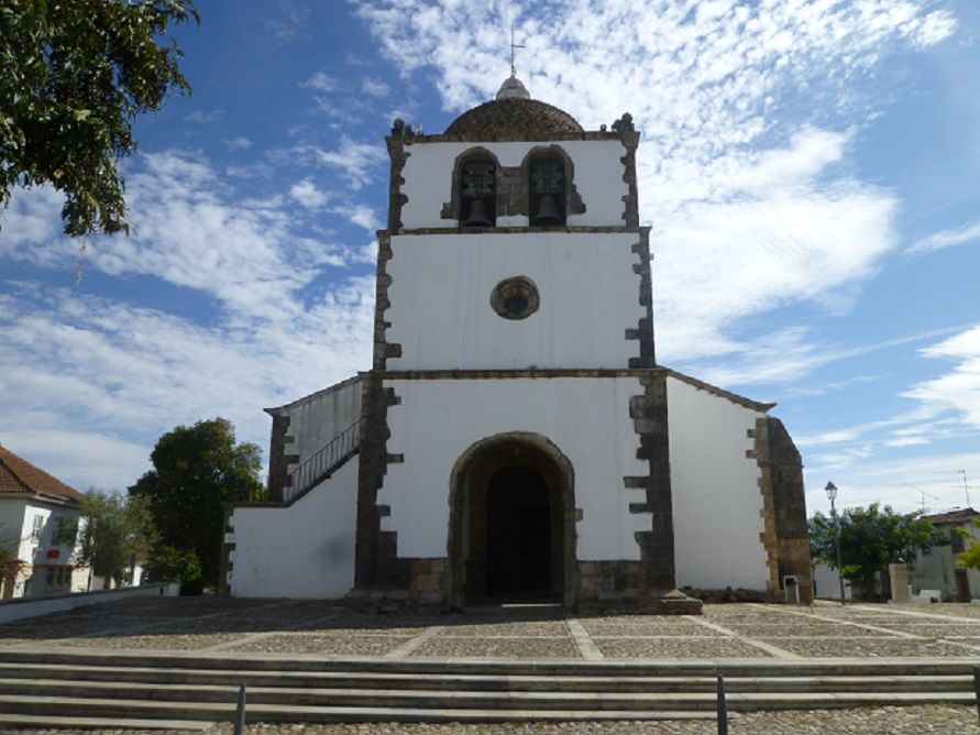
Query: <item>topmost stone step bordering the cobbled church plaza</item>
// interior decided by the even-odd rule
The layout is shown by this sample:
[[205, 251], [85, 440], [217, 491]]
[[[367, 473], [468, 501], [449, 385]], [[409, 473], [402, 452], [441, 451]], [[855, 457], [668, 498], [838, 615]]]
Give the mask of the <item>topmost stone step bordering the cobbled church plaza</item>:
[[662, 677], [711, 676], [727, 677], [833, 677], [833, 676], [972, 676], [980, 666], [980, 657], [962, 658], [838, 658], [810, 660], [780, 659], [605, 659], [576, 661], [568, 659], [507, 660], [507, 659], [379, 659], [329, 658], [312, 655], [242, 655], [185, 654], [166, 651], [103, 651], [77, 649], [52, 651], [49, 648], [0, 650], [0, 662], [64, 663], [111, 666], [120, 668], [192, 667], [197, 670], [236, 669], [254, 672], [378, 672], [378, 673], [445, 673], [496, 676], [571, 676], [571, 677]]

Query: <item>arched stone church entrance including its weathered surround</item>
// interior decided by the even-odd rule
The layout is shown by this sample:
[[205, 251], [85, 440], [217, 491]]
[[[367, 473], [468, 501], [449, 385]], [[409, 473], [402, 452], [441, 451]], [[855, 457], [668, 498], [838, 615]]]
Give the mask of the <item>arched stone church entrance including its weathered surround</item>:
[[577, 591], [572, 463], [530, 432], [488, 437], [456, 461], [450, 481], [448, 597], [554, 599]]

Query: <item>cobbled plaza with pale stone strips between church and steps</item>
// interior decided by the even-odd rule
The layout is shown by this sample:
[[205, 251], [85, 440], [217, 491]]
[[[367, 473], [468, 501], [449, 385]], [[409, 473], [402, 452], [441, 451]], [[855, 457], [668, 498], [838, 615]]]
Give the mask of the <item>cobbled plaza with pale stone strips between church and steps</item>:
[[980, 657], [980, 605], [705, 605], [704, 615], [558, 607], [356, 614], [317, 601], [136, 599], [0, 625], [0, 645], [386, 658]]

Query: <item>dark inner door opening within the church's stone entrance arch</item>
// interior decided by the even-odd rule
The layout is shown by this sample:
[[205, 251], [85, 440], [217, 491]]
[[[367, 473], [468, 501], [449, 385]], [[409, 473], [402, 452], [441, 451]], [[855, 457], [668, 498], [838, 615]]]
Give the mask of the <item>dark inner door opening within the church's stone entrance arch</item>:
[[548, 484], [529, 467], [496, 472], [486, 492], [486, 593], [493, 597], [552, 592]]

